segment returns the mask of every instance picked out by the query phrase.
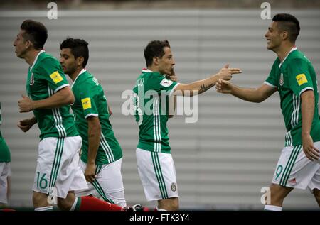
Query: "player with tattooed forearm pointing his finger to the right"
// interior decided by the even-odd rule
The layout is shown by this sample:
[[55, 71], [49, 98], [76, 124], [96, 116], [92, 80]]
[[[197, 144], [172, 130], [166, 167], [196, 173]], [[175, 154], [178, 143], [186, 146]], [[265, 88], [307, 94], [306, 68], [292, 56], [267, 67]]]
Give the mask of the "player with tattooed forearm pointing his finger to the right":
[[176, 82], [174, 58], [168, 40], [153, 40], [144, 49], [146, 69], [133, 89], [134, 115], [139, 124], [137, 165], [148, 201], [158, 201], [158, 210], [178, 210], [176, 170], [166, 123], [171, 95], [201, 94], [218, 79], [231, 79], [239, 69], [226, 66], [216, 75], [191, 84]]

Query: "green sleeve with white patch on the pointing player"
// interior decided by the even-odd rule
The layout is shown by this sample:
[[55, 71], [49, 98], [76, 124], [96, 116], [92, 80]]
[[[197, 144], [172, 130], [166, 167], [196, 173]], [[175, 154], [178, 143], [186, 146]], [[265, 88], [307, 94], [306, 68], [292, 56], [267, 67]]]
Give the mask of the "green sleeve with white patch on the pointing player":
[[157, 76], [150, 80], [150, 88], [159, 94], [166, 93], [170, 96], [179, 83], [174, 82], [166, 77]]

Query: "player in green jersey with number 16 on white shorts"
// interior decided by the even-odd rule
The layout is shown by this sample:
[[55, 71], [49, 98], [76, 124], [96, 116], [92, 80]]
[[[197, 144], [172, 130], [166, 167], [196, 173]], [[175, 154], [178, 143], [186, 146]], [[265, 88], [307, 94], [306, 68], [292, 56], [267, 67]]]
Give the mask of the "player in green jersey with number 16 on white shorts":
[[18, 127], [26, 132], [38, 123], [41, 130], [33, 206], [36, 210], [52, 210], [54, 202], [50, 198], [58, 197], [58, 207], [63, 210], [124, 210], [95, 197], [75, 197], [75, 191], [88, 188], [78, 165], [82, 139], [69, 112], [69, 104], [75, 98], [60, 62], [43, 50], [48, 37], [46, 27], [26, 20], [20, 28], [14, 40], [16, 55], [30, 67], [26, 79], [28, 97], [23, 96], [18, 106], [20, 112], [32, 110], [34, 117], [20, 121]]

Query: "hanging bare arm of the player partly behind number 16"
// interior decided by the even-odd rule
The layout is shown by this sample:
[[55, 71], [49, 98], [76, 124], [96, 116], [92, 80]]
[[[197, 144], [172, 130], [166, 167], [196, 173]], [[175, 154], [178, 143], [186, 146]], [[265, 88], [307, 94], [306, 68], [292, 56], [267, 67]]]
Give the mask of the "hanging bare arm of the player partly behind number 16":
[[98, 116], [89, 116], [87, 118], [87, 168], [85, 169], [85, 179], [87, 182], [95, 180], [95, 159], [97, 157], [97, 150], [100, 145], [101, 125]]

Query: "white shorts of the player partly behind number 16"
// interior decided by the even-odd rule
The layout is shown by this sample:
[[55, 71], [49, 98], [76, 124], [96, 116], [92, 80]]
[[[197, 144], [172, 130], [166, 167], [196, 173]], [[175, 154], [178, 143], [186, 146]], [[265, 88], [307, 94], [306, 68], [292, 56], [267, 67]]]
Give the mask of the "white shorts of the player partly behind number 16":
[[[102, 197], [102, 199], [107, 202], [117, 204], [121, 207], [126, 207], [127, 203], [124, 198], [121, 164], [122, 158], [107, 165], [96, 165], [96, 179], [93, 182], [87, 182], [88, 188], [86, 190], [75, 192], [75, 195], [78, 197], [88, 195], [93, 195], [97, 198]], [[82, 173], [85, 173], [87, 163], [80, 160], [79, 166]]]

